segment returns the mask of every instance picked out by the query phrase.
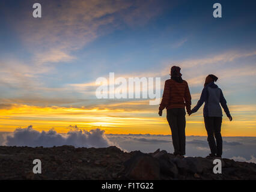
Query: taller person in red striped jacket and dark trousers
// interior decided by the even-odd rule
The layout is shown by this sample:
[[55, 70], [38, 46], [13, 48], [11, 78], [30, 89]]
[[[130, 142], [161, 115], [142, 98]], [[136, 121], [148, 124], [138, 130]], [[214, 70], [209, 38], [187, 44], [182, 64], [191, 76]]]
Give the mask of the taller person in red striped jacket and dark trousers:
[[180, 67], [171, 68], [171, 79], [165, 81], [163, 89], [163, 98], [159, 107], [159, 115], [162, 116], [162, 110], [167, 110], [167, 121], [172, 133], [172, 144], [174, 146], [174, 155], [183, 158], [186, 154], [186, 112], [191, 113], [191, 95], [187, 82], [181, 78]]

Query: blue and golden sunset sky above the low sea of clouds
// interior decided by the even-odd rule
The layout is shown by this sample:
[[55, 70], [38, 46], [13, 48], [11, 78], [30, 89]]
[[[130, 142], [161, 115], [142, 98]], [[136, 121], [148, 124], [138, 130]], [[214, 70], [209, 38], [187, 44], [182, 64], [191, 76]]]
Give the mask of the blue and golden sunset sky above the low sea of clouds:
[[[32, 16], [41, 4], [42, 17]], [[0, 2], [0, 131], [71, 126], [106, 134], [171, 134], [166, 112], [149, 99], [99, 99], [96, 79], [160, 77], [172, 65], [197, 104], [208, 74], [219, 77], [233, 121], [222, 136], [256, 137], [256, 2]], [[187, 136], [206, 136], [203, 106], [186, 116]]]

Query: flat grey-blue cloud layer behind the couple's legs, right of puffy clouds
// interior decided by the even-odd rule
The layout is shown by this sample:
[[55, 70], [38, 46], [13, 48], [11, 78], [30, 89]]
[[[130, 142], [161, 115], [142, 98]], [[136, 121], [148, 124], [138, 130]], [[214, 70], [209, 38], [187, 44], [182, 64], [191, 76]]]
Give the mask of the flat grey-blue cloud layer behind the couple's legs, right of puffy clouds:
[[[109, 140], [127, 151], [154, 152], [160, 148], [173, 152], [171, 135], [107, 134]], [[256, 137], [223, 137], [223, 157], [255, 163]], [[207, 137], [186, 136], [186, 156], [206, 157], [210, 154]]]

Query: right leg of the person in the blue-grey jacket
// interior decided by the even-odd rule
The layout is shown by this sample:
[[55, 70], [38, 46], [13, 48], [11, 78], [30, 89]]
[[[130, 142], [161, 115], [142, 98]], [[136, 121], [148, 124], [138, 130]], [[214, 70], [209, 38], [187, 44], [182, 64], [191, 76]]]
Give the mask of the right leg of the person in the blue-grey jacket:
[[222, 117], [216, 117], [215, 121], [215, 138], [217, 144], [217, 156], [221, 157], [222, 155], [222, 137], [221, 137], [221, 124], [222, 124]]

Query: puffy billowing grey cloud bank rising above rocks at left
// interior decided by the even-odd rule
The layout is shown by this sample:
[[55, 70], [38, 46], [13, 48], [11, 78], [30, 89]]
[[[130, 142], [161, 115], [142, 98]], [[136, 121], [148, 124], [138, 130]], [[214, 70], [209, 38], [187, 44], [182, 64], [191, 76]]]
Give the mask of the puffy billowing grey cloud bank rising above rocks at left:
[[[78, 127], [71, 127], [67, 134], [59, 134], [54, 129], [49, 131], [37, 131], [32, 128], [32, 125], [27, 128], [17, 128], [12, 134], [6, 137], [7, 146], [61, 146], [73, 145], [75, 147], [87, 148], [105, 148], [114, 143], [110, 142], [105, 136], [105, 131], [99, 128], [85, 131]], [[0, 143], [1, 144], [1, 143]]]

